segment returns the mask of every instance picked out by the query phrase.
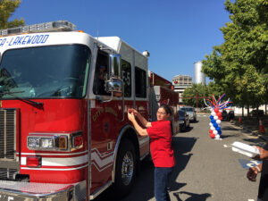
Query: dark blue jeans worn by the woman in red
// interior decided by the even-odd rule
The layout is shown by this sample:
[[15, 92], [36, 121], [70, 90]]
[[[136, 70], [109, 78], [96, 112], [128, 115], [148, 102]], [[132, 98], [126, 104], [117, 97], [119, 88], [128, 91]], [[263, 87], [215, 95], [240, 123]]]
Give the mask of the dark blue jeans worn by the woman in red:
[[168, 193], [168, 183], [173, 167], [155, 167], [155, 199], [156, 201], [171, 201]]

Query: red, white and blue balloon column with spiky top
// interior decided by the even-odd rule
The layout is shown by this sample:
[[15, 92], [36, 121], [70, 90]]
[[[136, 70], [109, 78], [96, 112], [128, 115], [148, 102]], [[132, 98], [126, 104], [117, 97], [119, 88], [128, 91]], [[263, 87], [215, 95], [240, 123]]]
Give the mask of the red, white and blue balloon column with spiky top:
[[222, 129], [221, 129], [222, 128], [222, 112], [221, 111], [231, 106], [230, 98], [227, 101], [221, 103], [223, 96], [225, 96], [225, 94], [220, 96], [218, 100], [216, 100], [215, 96], [212, 97], [212, 100], [204, 99], [205, 105], [211, 111], [211, 115], [209, 117], [211, 120], [209, 123], [210, 138], [216, 138], [216, 139], [221, 138], [221, 135], [222, 135]]

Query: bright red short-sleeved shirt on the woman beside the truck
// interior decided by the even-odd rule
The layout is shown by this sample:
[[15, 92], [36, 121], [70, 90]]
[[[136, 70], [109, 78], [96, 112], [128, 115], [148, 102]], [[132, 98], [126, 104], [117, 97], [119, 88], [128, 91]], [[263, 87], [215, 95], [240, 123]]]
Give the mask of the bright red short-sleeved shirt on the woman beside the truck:
[[151, 155], [155, 167], [173, 167], [175, 165], [172, 149], [171, 121], [153, 121], [147, 128], [150, 137]]

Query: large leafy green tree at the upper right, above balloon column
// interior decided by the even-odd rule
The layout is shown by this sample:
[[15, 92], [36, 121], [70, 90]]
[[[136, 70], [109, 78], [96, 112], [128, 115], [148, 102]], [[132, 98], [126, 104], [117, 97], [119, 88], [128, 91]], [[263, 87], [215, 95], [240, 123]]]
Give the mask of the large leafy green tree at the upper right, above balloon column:
[[222, 27], [224, 43], [205, 55], [203, 71], [221, 85], [236, 105], [258, 107], [267, 101], [267, 0], [226, 0], [231, 22]]

